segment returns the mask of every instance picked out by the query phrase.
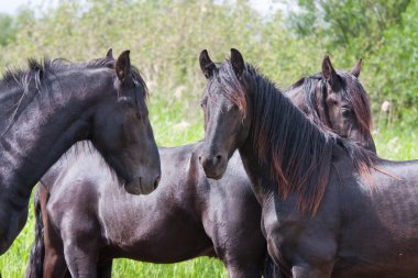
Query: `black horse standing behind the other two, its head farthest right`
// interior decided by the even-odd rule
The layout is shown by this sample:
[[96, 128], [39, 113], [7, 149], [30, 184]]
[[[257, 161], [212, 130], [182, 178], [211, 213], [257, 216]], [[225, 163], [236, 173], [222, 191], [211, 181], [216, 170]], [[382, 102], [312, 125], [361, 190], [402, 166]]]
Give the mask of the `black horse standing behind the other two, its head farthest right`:
[[[328, 57], [323, 60], [323, 67], [326, 66], [332, 67]], [[354, 69], [359, 74], [360, 64]], [[339, 73], [341, 80], [356, 80], [355, 76], [346, 71]], [[292, 87], [295, 100], [300, 97], [308, 100], [309, 94], [339, 93], [332, 91], [331, 87], [323, 90], [317, 86], [321, 82], [318, 76], [306, 77]], [[316, 86], [309, 86], [314, 82]], [[351, 99], [365, 99], [361, 85], [345, 88], [352, 94], [362, 94]], [[346, 101], [341, 103], [349, 107], [354, 104]], [[367, 102], [360, 104], [369, 105]], [[299, 105], [312, 119], [323, 113], [321, 104], [299, 101]], [[356, 110], [370, 109], [366, 107]], [[343, 118], [344, 122], [353, 122], [352, 126], [360, 125], [354, 113], [338, 116]], [[361, 120], [371, 122], [370, 119]], [[323, 124], [331, 121], [338, 119]], [[369, 138], [369, 135], [370, 130], [366, 129], [360, 138]], [[160, 188], [147, 198], [135, 198], [117, 191], [113, 188], [117, 180], [100, 168], [98, 155], [77, 155], [72, 151], [42, 179], [40, 196], [35, 200], [36, 240], [26, 276], [62, 277], [67, 269], [65, 258], [75, 277], [79, 273], [74, 269], [89, 269], [89, 275], [98, 271], [98, 276], [107, 277], [111, 274], [111, 262], [116, 257], [175, 263], [202, 255], [216, 255], [224, 263], [230, 277], [260, 277], [266, 249], [260, 230], [261, 207], [254, 198], [241, 160], [237, 155], [227, 176], [215, 181], [207, 179], [198, 166], [199, 149], [200, 144], [161, 148], [163, 178]], [[88, 171], [85, 170], [85, 165], [89, 165]], [[84, 198], [74, 201], [79, 199], [78, 196]], [[110, 198], [113, 205], [100, 205], [110, 203]], [[118, 203], [123, 205], [117, 205]], [[158, 203], [161, 205], [155, 205]], [[84, 215], [82, 223], [79, 223], [79, 215]], [[88, 232], [85, 230], [86, 223], [91, 223]], [[109, 230], [113, 232], [103, 234], [102, 231]], [[123, 242], [118, 236], [122, 232]], [[67, 246], [73, 242], [68, 237], [82, 245], [95, 238], [95, 244], [89, 245], [88, 254], [84, 257], [91, 260], [99, 258], [97, 268], [90, 260], [74, 263]], [[67, 253], [64, 252], [66, 249]]]

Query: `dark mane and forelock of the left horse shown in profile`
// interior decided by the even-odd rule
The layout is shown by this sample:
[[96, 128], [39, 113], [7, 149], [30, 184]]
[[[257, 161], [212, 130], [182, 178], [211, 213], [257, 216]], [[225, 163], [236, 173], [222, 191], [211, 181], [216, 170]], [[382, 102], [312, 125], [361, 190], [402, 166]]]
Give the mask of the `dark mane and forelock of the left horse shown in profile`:
[[[22, 114], [24, 109], [37, 97], [48, 97], [53, 100], [52, 85], [57, 75], [70, 70], [95, 68], [114, 68], [114, 59], [110, 57], [92, 59], [88, 63], [70, 63], [63, 58], [35, 60], [28, 59], [28, 69], [7, 69], [0, 80], [0, 136], [2, 136]], [[131, 77], [135, 87], [135, 102], [139, 112], [146, 111], [148, 90], [141, 73], [131, 66]], [[114, 75], [117, 79], [117, 76]], [[62, 86], [59, 84], [59, 91]], [[119, 87], [116, 87], [119, 91]]]

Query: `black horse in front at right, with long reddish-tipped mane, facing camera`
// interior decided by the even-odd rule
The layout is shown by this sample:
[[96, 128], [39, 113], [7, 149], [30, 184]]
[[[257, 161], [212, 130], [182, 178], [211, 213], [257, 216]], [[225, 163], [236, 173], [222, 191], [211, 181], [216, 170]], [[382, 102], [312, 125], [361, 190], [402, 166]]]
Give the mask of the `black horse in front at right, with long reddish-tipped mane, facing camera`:
[[417, 160], [380, 159], [316, 125], [237, 49], [219, 66], [204, 51], [200, 64], [201, 165], [219, 179], [239, 149], [283, 275], [417, 276]]

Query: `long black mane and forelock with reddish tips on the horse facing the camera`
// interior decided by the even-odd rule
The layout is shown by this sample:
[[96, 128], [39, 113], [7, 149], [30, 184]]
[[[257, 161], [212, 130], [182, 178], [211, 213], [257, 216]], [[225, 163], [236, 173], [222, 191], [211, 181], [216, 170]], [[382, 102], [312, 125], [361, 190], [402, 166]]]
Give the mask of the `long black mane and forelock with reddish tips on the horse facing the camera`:
[[[242, 116], [251, 109], [249, 138], [260, 164], [270, 165], [272, 182], [286, 199], [297, 194], [297, 208], [315, 214], [326, 191], [333, 148], [342, 146], [351, 158], [354, 169], [366, 181], [371, 180], [370, 168], [377, 157], [355, 143], [317, 125], [297, 109], [275, 85], [245, 64], [243, 75], [238, 78], [230, 60], [215, 70], [209, 84], [209, 93], [217, 87], [224, 96], [242, 109]], [[251, 108], [248, 101], [251, 101]], [[373, 187], [373, 182], [367, 182]]]

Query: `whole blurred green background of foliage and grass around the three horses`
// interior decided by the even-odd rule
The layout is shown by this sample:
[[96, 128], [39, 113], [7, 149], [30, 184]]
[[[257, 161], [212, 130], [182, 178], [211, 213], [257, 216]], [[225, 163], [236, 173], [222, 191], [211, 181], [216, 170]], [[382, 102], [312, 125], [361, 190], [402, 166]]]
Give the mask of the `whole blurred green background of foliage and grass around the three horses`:
[[[418, 1], [82, 0], [40, 2], [0, 14], [0, 63], [25, 68], [26, 58], [84, 62], [131, 49], [150, 88], [150, 116], [160, 145], [202, 138], [199, 107], [205, 78], [198, 55], [213, 60], [241, 51], [280, 88], [320, 71], [326, 54], [336, 68], [363, 57], [361, 81], [374, 114], [382, 157], [418, 157]], [[385, 103], [383, 105], [383, 103]], [[382, 107], [385, 107], [382, 109]], [[22, 277], [33, 240], [33, 213], [0, 258], [3, 277]], [[226, 277], [221, 263], [199, 258], [175, 265], [119, 259], [114, 277]]]

